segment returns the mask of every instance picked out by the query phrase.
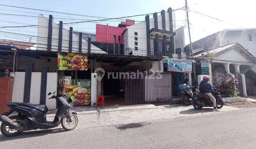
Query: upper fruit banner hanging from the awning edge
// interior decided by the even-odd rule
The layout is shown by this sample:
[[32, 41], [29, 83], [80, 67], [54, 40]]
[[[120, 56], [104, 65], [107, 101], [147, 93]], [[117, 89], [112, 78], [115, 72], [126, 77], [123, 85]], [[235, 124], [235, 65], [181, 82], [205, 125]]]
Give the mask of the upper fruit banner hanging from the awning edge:
[[87, 70], [87, 54], [58, 53], [58, 70]]

